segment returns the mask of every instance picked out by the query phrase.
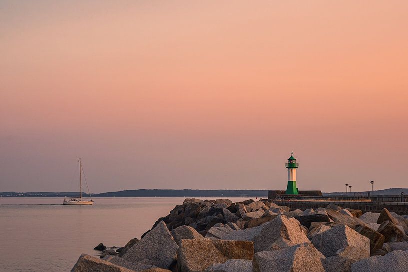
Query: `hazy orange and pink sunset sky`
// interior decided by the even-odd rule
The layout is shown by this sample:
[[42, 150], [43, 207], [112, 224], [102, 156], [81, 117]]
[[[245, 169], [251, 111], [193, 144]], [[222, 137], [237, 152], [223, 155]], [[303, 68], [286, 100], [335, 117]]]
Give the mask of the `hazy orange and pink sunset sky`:
[[408, 187], [407, 13], [0, 0], [0, 191]]

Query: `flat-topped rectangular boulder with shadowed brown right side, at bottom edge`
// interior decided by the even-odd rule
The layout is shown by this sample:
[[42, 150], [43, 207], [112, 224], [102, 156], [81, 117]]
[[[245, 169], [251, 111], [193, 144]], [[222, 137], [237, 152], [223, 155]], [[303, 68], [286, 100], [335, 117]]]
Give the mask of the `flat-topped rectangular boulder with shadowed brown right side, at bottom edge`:
[[229, 259], [252, 260], [254, 246], [248, 241], [216, 239], [181, 240], [177, 250], [179, 272], [205, 271]]

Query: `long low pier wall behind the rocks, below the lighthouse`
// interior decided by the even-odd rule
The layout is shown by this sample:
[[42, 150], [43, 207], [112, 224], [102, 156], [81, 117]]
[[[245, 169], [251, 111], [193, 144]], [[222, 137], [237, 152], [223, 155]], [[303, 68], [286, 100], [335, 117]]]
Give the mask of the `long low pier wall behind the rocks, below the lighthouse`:
[[387, 208], [390, 212], [399, 215], [408, 215], [408, 202], [369, 202], [369, 201], [302, 201], [302, 200], [273, 200], [279, 206], [288, 206], [291, 210], [326, 208], [330, 203], [343, 208], [362, 210], [363, 213], [380, 213]]

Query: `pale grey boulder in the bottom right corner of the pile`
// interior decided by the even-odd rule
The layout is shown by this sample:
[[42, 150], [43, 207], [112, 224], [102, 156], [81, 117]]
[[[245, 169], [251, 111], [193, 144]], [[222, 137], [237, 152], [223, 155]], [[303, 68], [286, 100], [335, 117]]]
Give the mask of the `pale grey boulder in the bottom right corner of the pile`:
[[393, 251], [385, 256], [373, 256], [352, 265], [352, 272], [407, 272], [408, 251]]

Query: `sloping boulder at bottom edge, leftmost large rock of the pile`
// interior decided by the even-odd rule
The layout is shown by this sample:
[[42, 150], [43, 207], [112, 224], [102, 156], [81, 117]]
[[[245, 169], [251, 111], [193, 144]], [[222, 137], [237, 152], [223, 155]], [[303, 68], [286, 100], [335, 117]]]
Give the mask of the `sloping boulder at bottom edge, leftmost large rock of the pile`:
[[71, 272], [134, 272], [110, 262], [82, 254]]

